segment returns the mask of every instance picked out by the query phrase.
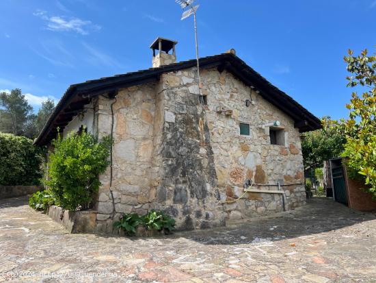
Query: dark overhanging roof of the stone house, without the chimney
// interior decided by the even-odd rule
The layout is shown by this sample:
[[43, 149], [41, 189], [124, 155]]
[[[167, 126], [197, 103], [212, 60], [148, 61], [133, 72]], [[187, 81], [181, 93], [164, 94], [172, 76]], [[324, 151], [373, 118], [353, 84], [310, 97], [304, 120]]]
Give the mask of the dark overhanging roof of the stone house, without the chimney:
[[[69, 123], [75, 116], [75, 111], [81, 109], [83, 105], [89, 103], [88, 97], [94, 97], [103, 93], [116, 92], [120, 88], [145, 84], [147, 82], [156, 82], [162, 73], [178, 71], [196, 66], [196, 60], [188, 60], [150, 68], [131, 73], [114, 75], [112, 77], [102, 77], [92, 79], [80, 84], [72, 84], [64, 93], [62, 99], [55, 108], [55, 111], [49, 117], [38, 138], [34, 141], [36, 145], [46, 145], [55, 137], [56, 128]], [[267, 101], [286, 112], [295, 121], [295, 127], [300, 132], [317, 130], [321, 123], [316, 116], [311, 114], [306, 108], [301, 106], [282, 90], [273, 86], [262, 75], [254, 71], [243, 60], [232, 53], [223, 53], [215, 56], [200, 58], [200, 69], [217, 67], [219, 71], [229, 71], [248, 86], [254, 86], [259, 90], [260, 95]]]

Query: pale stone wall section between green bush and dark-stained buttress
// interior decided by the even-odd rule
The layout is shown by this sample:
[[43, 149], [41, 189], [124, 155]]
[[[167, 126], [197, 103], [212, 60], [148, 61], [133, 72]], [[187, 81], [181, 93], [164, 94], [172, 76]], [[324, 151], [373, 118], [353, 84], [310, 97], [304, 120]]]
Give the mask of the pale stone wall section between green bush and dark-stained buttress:
[[[155, 84], [120, 90], [115, 99], [98, 99], [98, 135], [111, 133], [113, 103], [113, 178], [110, 171], [100, 176], [98, 230], [109, 232], [112, 218], [121, 213], [144, 214], [155, 199], [153, 180], [159, 175], [158, 144], [161, 143], [161, 99]], [[156, 114], [157, 112], [157, 114]], [[152, 154], [154, 151], [155, 154]], [[113, 211], [115, 208], [115, 211]]]

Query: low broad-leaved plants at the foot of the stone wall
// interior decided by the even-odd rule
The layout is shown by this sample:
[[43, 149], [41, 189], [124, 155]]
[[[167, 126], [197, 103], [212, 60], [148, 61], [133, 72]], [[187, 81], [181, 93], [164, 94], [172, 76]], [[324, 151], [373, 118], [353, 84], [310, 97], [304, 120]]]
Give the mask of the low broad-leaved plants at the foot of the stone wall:
[[169, 233], [174, 230], [175, 220], [164, 212], [150, 210], [142, 217], [137, 213], [123, 214], [119, 221], [113, 223], [113, 227], [124, 230], [130, 236], [135, 234], [139, 225], [146, 227], [147, 230], [163, 230]]

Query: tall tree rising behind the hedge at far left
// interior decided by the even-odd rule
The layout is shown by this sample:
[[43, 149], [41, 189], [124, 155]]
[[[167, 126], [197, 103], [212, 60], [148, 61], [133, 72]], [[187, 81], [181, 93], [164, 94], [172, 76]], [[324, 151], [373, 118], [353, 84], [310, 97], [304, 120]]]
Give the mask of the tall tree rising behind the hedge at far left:
[[27, 103], [21, 89], [0, 93], [0, 107], [3, 108], [0, 109], [0, 132], [23, 135], [33, 108]]

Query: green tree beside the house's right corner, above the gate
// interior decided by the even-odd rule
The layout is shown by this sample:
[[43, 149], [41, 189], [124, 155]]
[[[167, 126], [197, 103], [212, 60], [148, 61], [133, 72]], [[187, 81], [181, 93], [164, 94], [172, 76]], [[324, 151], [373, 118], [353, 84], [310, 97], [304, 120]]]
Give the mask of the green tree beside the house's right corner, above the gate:
[[322, 168], [325, 160], [341, 156], [346, 142], [345, 136], [338, 132], [340, 126], [331, 121], [330, 116], [323, 117], [322, 121], [323, 129], [304, 133], [301, 140], [304, 169], [312, 173]]

